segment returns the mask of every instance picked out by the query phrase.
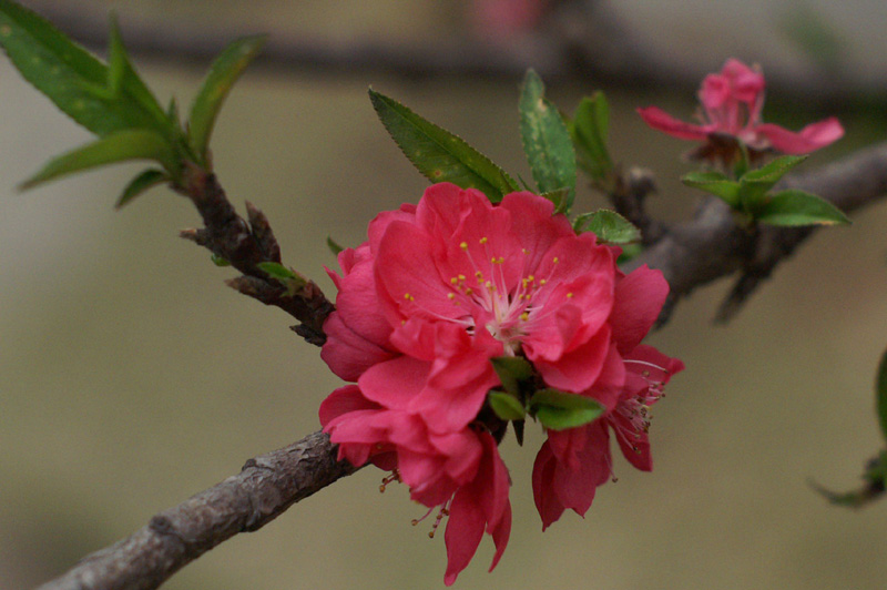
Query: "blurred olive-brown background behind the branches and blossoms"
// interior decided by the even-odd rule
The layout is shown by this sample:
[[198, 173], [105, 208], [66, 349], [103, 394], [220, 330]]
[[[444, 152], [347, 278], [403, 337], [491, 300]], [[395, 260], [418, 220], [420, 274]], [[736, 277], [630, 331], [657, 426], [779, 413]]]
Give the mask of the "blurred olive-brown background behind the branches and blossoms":
[[[109, 6], [24, 3], [69, 7], [86, 23], [102, 23]], [[493, 28], [502, 14], [496, 2], [487, 12], [455, 0], [115, 6], [124, 39], [152, 22], [177, 38], [220, 35], [216, 49], [256, 31], [322, 50], [360, 41], [407, 55], [487, 39], [497, 55], [517, 55], [543, 73], [562, 39], [550, 16], [536, 20], [532, 11], [531, 29], [522, 21]], [[797, 129], [834, 112], [846, 123], [847, 138], [807, 166], [887, 135], [879, 90], [887, 41], [877, 32], [887, 9], [879, 0], [842, 2], [839, 12], [825, 0], [592, 8], [601, 7], [608, 27], [623, 28], [614, 37], [638, 40], [635, 50], [659, 60], [652, 69], [681, 72], [680, 83], [634, 88], [631, 75], [600, 82], [561, 71], [552, 73], [550, 95], [572, 112], [581, 95], [608, 92], [612, 152], [656, 172], [651, 206], [663, 217], [687, 215], [699, 197], [676, 180], [690, 170], [679, 159], [690, 145], [648, 130], [634, 109], [655, 103], [689, 118], [699, 80], [728, 57], [772, 74], [769, 120]], [[483, 20], [490, 14], [493, 21]], [[175, 93], [185, 105], [208, 65], [175, 55], [135, 61], [162, 100]], [[853, 90], [839, 100], [827, 96], [835, 72], [842, 89]], [[376, 121], [367, 87], [529, 177], [517, 132], [519, 82], [519, 74], [460, 77], [458, 68], [405, 78], [385, 68], [259, 65], [223, 110], [216, 170], [237, 206], [248, 199], [268, 215], [284, 262], [333, 297], [323, 271], [335, 265], [327, 235], [357, 245], [378, 211], [416, 202], [427, 185]], [[810, 91], [802, 100], [793, 84], [826, 98]], [[49, 157], [86, 140], [0, 60], [2, 588], [62, 572], [236, 474], [245, 459], [316, 430], [317, 406], [339, 385], [318, 349], [287, 328], [288, 316], [225, 287], [233, 272], [176, 237], [198, 223], [182, 197], [156, 189], [113, 211], [137, 166], [16, 191]], [[588, 191], [581, 199], [578, 212], [601, 205]], [[530, 487], [541, 434], [528, 428], [523, 449], [509, 438], [509, 548], [488, 574], [492, 543], [485, 538], [456, 588], [883, 588], [887, 505], [830, 507], [807, 480], [854, 487], [883, 446], [873, 380], [887, 344], [886, 225], [881, 203], [849, 228], [817, 233], [726, 327], [711, 318], [730, 285], [683, 302], [650, 338], [687, 366], [656, 406], [655, 470], [639, 474], [619, 458], [619, 482], [600, 489], [584, 520], [571, 512], [541, 532]], [[410, 527], [424, 509], [405, 489], [380, 495], [383, 475], [368, 468], [338, 481], [258, 532], [223, 543], [165, 588], [442, 588], [442, 535], [432, 541], [426, 526]]]

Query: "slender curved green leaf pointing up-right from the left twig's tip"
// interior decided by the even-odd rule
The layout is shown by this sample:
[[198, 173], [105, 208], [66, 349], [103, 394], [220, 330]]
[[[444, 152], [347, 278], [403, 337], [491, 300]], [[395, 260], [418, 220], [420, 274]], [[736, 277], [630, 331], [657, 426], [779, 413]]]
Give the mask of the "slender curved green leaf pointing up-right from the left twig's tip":
[[200, 92], [191, 105], [187, 122], [188, 144], [195, 154], [206, 162], [210, 135], [222, 103], [231, 88], [249, 65], [267, 41], [266, 35], [238, 39], [228, 44], [213, 62]]

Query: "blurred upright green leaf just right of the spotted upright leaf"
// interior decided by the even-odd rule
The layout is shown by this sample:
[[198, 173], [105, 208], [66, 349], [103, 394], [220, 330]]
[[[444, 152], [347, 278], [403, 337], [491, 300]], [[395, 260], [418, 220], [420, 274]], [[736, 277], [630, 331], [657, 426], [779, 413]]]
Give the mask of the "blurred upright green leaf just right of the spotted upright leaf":
[[606, 150], [610, 105], [603, 92], [582, 99], [569, 129], [578, 149], [579, 164], [592, 179], [604, 180], [613, 170], [613, 161]]

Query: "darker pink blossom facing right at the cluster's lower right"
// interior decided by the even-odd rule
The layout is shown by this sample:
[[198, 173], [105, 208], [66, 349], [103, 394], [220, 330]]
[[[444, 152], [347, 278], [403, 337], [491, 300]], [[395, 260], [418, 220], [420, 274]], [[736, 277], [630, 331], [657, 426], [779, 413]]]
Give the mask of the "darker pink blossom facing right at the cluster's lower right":
[[580, 516], [591, 507], [598, 486], [612, 477], [610, 430], [625, 459], [650, 471], [650, 407], [683, 363], [651, 346], [638, 346], [625, 359], [625, 380], [615, 409], [603, 419], [569, 430], [549, 431], [533, 465], [533, 497], [542, 529], [567, 508]]

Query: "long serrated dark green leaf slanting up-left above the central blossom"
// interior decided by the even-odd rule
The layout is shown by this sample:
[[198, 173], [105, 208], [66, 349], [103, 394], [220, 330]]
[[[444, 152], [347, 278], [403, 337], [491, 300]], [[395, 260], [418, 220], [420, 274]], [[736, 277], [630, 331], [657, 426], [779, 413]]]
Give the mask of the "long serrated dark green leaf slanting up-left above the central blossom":
[[419, 116], [394, 99], [369, 90], [369, 100], [404, 155], [431, 182], [477, 189], [493, 203], [520, 186], [465, 140]]

